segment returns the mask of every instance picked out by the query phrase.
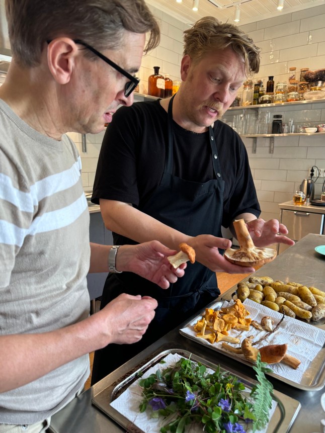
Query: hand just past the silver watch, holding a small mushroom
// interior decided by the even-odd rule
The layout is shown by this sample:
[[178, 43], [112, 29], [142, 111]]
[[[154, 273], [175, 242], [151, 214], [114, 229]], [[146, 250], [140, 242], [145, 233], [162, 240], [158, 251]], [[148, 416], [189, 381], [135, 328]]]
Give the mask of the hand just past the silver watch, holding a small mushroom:
[[186, 264], [174, 269], [167, 256], [176, 254], [176, 250], [167, 248], [157, 240], [138, 245], [122, 245], [117, 254], [116, 268], [138, 274], [161, 289], [168, 289], [170, 283], [176, 283], [183, 277]]

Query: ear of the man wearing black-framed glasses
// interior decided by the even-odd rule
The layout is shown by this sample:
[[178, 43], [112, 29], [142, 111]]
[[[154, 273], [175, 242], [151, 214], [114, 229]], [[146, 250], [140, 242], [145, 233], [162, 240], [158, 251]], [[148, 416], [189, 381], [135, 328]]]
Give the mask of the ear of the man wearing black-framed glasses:
[[56, 38], [47, 49], [48, 67], [55, 81], [59, 84], [69, 82], [75, 67], [77, 45], [70, 38]]

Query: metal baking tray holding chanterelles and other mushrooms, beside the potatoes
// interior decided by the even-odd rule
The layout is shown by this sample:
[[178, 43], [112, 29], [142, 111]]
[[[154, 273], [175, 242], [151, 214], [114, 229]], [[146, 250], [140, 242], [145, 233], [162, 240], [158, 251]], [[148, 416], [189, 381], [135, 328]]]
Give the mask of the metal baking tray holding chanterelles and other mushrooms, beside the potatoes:
[[[219, 301], [215, 301], [210, 303], [207, 308], [213, 308], [214, 310], [219, 310], [224, 303], [227, 301], [224, 300], [219, 300]], [[245, 305], [245, 303], [244, 303]], [[266, 310], [269, 310], [270, 313], [268, 313], [270, 316], [272, 316], [272, 313], [275, 313], [273, 310], [270, 310], [267, 307], [262, 307], [259, 304], [256, 303], [256, 308], [264, 308]], [[249, 309], [249, 308], [248, 308]], [[197, 338], [196, 332], [192, 332], [191, 334], [188, 331], [188, 328], [193, 329], [193, 325], [202, 318], [202, 316], [205, 314], [205, 309], [201, 312], [201, 314], [198, 314], [196, 316], [193, 316], [192, 318], [189, 319], [189, 321], [187, 323], [184, 323], [182, 325], [182, 329], [180, 329], [180, 333], [181, 335], [185, 336], [186, 338], [189, 338], [193, 341], [195, 341], [197, 344], [203, 344], [206, 348], [209, 348], [213, 351], [216, 351], [220, 354], [223, 354], [227, 357], [230, 357], [231, 359], [237, 360], [242, 364], [248, 365], [248, 366], [253, 366], [253, 363], [251, 363], [250, 361], [248, 361], [247, 359], [243, 358], [240, 355], [237, 355], [233, 352], [228, 352], [224, 349], [220, 349], [216, 344], [211, 344], [210, 342], [206, 341], [203, 338]], [[277, 313], [280, 316], [280, 313]], [[292, 319], [290, 318], [290, 320], [296, 320], [296, 319]], [[276, 322], [275, 322], [276, 323]], [[281, 327], [280, 327], [281, 329]], [[239, 333], [240, 331], [238, 331], [238, 336], [242, 336], [244, 331], [241, 331], [241, 333]], [[248, 331], [247, 335], [249, 335]], [[235, 336], [235, 335], [233, 335]], [[269, 344], [271, 344], [271, 342], [269, 342]], [[325, 385], [325, 344], [323, 345], [322, 349], [317, 353], [317, 355], [313, 358], [313, 360], [308, 364], [307, 369], [305, 370], [305, 372], [303, 373], [300, 382], [295, 382], [291, 379], [289, 379], [288, 377], [284, 377], [280, 374], [277, 374], [275, 372], [272, 373], [267, 373], [268, 375], [275, 377], [276, 379], [280, 380], [281, 382], [284, 382], [288, 385], [291, 385], [295, 388], [301, 389], [301, 390], [305, 390], [305, 391], [316, 391], [321, 389], [324, 385]], [[270, 365], [270, 368], [274, 369], [275, 365]], [[282, 367], [282, 366], [281, 366]], [[277, 366], [277, 368], [280, 368], [279, 365]], [[283, 366], [283, 368], [285, 368], [286, 370], [290, 370], [290, 367], [285, 367]], [[298, 367], [299, 368], [299, 367]]]

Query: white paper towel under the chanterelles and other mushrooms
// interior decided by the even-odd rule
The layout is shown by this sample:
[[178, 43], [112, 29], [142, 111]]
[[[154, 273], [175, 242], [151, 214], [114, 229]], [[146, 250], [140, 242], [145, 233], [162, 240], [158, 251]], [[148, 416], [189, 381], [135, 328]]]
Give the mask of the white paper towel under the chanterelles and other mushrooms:
[[[223, 305], [227, 307], [232, 305], [233, 301], [225, 302]], [[264, 316], [272, 317], [275, 325], [282, 318], [282, 314], [276, 311], [271, 310], [264, 305], [257, 304], [250, 299], [245, 299], [243, 302], [245, 308], [250, 312], [250, 317], [252, 320], [256, 320], [259, 323]], [[213, 306], [212, 306], [213, 308]], [[201, 316], [198, 316], [200, 319]], [[195, 320], [191, 325], [186, 328], [181, 329], [182, 333], [195, 337], [196, 332], [193, 329], [193, 324], [196, 323]], [[275, 326], [274, 325], [274, 326]], [[242, 341], [244, 338], [249, 335], [254, 335], [253, 341], [256, 341], [265, 335], [265, 331], [259, 331], [254, 326], [251, 326], [249, 331], [238, 331], [235, 329], [231, 329], [229, 331], [229, 335], [233, 337], [240, 338]], [[209, 341], [203, 338], [196, 338], [198, 343], [205, 344], [208, 347], [212, 348], [212, 344]], [[292, 382], [301, 383], [302, 377], [306, 370], [308, 369], [310, 362], [315, 358], [320, 349], [323, 347], [325, 342], [325, 330], [318, 328], [317, 326], [310, 325], [308, 323], [302, 322], [300, 320], [294, 319], [292, 317], [285, 316], [283, 322], [279, 326], [279, 329], [271, 334], [267, 340], [261, 341], [260, 345], [255, 347], [259, 348], [268, 344], [284, 344], [288, 345], [287, 354], [291, 355], [295, 358], [298, 358], [301, 361], [299, 367], [295, 370], [283, 363], [277, 363], [270, 365], [270, 368], [273, 372], [283, 378], [290, 379]], [[231, 344], [233, 347], [240, 347], [239, 344]], [[245, 360], [243, 355], [237, 355], [226, 351], [222, 348], [221, 342], [213, 343], [213, 346], [216, 346], [218, 350], [230, 356], [231, 358], [237, 358], [241, 360]]]

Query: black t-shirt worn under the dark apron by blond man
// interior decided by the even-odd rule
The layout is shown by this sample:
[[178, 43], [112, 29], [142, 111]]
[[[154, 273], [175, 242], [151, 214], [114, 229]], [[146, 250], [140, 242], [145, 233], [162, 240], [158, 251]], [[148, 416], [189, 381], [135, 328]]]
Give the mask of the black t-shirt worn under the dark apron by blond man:
[[[173, 175], [202, 183], [215, 179], [208, 131], [194, 133], [176, 122], [173, 131]], [[219, 120], [213, 131], [225, 182], [222, 225], [228, 227], [243, 212], [259, 217], [245, 146], [238, 134]], [[159, 101], [138, 102], [117, 110], [102, 143], [92, 202], [117, 200], [141, 209], [164, 173], [167, 140], [167, 113]]]

